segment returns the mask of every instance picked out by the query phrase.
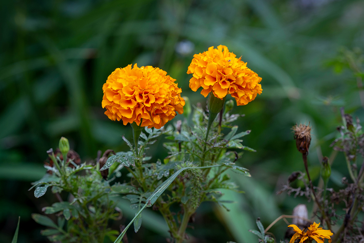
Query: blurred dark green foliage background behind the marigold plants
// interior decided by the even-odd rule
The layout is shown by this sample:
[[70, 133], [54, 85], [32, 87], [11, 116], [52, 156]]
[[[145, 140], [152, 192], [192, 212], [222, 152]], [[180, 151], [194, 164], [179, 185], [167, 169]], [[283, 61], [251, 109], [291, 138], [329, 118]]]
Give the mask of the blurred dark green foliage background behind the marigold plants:
[[[267, 227], [305, 202], [275, 195], [290, 173], [304, 170], [292, 125], [313, 126], [309, 166], [317, 183], [320, 158], [332, 153], [339, 108], [364, 119], [357, 79], [337, 61], [342, 46], [364, 47], [364, 1], [2, 0], [0, 21], [0, 242], [11, 242], [17, 216], [19, 243], [47, 242], [30, 215], [56, 199], [51, 193], [35, 199], [27, 190], [44, 175], [46, 150], [61, 136], [83, 161], [98, 149], [127, 150], [121, 136], [131, 137], [130, 126], [110, 121], [101, 107], [102, 85], [117, 67], [158, 66], [177, 79], [183, 96], [202, 105], [205, 98], [189, 89], [186, 74], [195, 53], [226, 45], [262, 77], [263, 93], [233, 110], [246, 114], [236, 123], [252, 130], [244, 144], [257, 150], [238, 161], [252, 178], [230, 172], [246, 193], [226, 192], [226, 200], [236, 201], [227, 205], [230, 212], [202, 204], [188, 230], [192, 242], [257, 242], [248, 232], [257, 217]], [[167, 155], [163, 141], [149, 150], [154, 158]], [[340, 187], [345, 168], [338, 154], [329, 187]], [[124, 218], [112, 228], [134, 214], [122, 208]], [[165, 242], [165, 229], [149, 211], [141, 230], [128, 232], [129, 242]], [[281, 221], [270, 231], [281, 239], [285, 230]]]

